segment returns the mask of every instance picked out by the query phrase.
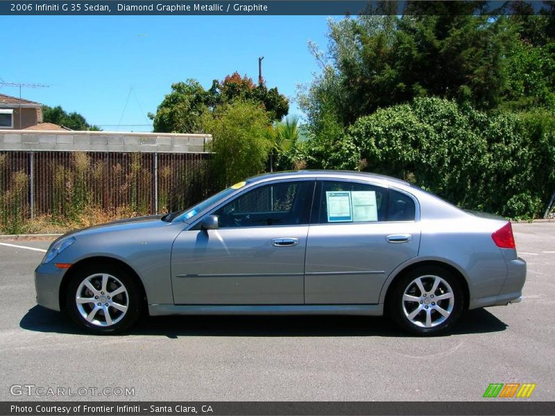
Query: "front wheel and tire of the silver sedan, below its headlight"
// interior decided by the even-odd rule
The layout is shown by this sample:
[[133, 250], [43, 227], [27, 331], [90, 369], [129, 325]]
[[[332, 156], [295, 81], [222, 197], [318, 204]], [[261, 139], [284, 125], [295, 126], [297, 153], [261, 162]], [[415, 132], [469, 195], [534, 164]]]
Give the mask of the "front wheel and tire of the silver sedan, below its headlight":
[[65, 295], [70, 318], [92, 333], [125, 331], [137, 322], [143, 309], [142, 291], [135, 279], [112, 264], [77, 270]]

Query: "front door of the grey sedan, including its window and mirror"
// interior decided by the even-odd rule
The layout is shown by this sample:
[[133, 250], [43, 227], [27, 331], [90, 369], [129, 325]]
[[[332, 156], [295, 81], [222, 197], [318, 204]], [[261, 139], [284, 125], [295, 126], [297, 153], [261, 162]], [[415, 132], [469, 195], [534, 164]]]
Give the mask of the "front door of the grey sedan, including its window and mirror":
[[214, 209], [217, 229], [173, 243], [176, 304], [302, 304], [314, 179], [262, 184]]

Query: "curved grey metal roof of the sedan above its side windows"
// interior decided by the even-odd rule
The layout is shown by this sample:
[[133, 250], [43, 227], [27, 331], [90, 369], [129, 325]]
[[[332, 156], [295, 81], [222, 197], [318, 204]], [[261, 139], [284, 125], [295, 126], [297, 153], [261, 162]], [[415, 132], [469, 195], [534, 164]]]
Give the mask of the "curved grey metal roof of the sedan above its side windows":
[[282, 171], [274, 173], [262, 173], [262, 175], [257, 175], [250, 177], [247, 182], [266, 182], [266, 180], [276, 180], [276, 179], [291, 179], [296, 177], [337, 177], [342, 179], [352, 179], [352, 180], [373, 180], [377, 182], [382, 182], [384, 184], [393, 184], [401, 187], [413, 188], [413, 185], [404, 180], [400, 180], [396, 177], [379, 175], [377, 173], [367, 173], [367, 172], [357, 172], [357, 171], [328, 171], [328, 170], [303, 170], [303, 171]]

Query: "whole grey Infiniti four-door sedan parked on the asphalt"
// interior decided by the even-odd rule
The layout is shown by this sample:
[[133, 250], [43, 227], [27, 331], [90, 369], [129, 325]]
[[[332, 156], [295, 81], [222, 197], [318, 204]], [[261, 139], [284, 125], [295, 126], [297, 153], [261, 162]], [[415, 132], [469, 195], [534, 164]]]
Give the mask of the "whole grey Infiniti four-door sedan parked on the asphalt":
[[37, 303], [116, 333], [150, 315], [388, 315], [432, 335], [519, 302], [511, 223], [382, 175], [252, 177], [185, 211], [82, 229], [35, 270]]

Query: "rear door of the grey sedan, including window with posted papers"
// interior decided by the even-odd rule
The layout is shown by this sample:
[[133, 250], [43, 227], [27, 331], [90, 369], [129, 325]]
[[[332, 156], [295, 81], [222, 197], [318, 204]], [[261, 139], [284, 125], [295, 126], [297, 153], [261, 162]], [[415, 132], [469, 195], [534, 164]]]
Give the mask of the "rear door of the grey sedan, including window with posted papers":
[[388, 275], [416, 257], [417, 205], [362, 182], [318, 181], [305, 265], [305, 303], [374, 304]]

